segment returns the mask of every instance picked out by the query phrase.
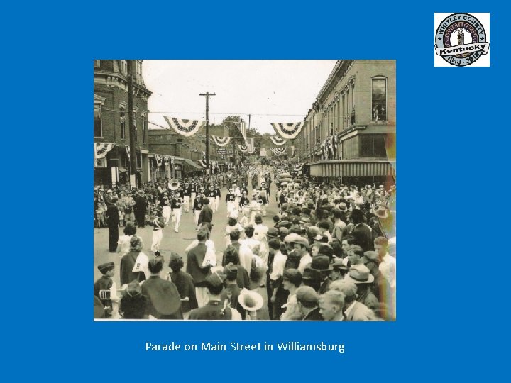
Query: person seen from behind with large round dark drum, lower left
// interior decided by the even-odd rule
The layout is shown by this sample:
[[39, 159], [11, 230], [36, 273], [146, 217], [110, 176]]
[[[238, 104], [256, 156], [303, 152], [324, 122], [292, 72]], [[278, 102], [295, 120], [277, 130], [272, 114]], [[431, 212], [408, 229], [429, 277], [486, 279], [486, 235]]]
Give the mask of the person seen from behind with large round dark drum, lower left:
[[142, 284], [142, 294], [148, 299], [146, 314], [157, 319], [182, 319], [181, 299], [172, 281], [160, 277], [163, 260], [159, 257], [150, 260], [150, 277]]

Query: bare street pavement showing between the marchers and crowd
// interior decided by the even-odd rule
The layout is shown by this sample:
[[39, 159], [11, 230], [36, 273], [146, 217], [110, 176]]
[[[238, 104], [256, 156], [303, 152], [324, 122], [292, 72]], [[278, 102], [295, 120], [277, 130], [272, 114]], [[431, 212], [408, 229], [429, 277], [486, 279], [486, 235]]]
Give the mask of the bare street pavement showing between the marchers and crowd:
[[[251, 185], [248, 185], [248, 196], [251, 196]], [[277, 192], [277, 188], [275, 184], [272, 183], [270, 188], [270, 204], [266, 206], [266, 216], [263, 217], [263, 223], [270, 227], [273, 227], [272, 217], [278, 213], [277, 202], [275, 201], [275, 193]], [[221, 199], [219, 210], [213, 214], [213, 231], [211, 233], [211, 239], [214, 241], [216, 248], [216, 260], [218, 261], [218, 265], [221, 265], [222, 254], [226, 248], [226, 226], [227, 226], [227, 207], [225, 202], [225, 196], [227, 193], [227, 189], [224, 187], [221, 189]], [[119, 228], [119, 235], [123, 235], [123, 227]], [[149, 259], [153, 257], [153, 252], [150, 251], [150, 245], [153, 240], [153, 227], [145, 226], [145, 228], [137, 228], [136, 235], [142, 238], [143, 240], [143, 252], [148, 255]], [[195, 224], [192, 214], [192, 209], [190, 209], [189, 213], [185, 213], [183, 208], [183, 213], [181, 216], [181, 223], [179, 233], [175, 233], [172, 223], [169, 226], [163, 228], [163, 240], [160, 245], [160, 253], [165, 258], [165, 262], [163, 265], [163, 271], [161, 273], [161, 277], [164, 279], [167, 277], [167, 273], [170, 272], [170, 267], [168, 267], [168, 262], [170, 260], [170, 253], [177, 252], [177, 254], [181, 255], [183, 262], [185, 262], [185, 266], [182, 268], [183, 271], [186, 270], [187, 257], [185, 255], [185, 248], [192, 243], [193, 240], [197, 239], [197, 231], [195, 231]], [[101, 277], [101, 273], [97, 269], [98, 265], [101, 265], [104, 262], [114, 262], [115, 267], [115, 275], [114, 281], [117, 284], [117, 287], [120, 287], [120, 277], [119, 270], [121, 266], [121, 255], [119, 253], [109, 252], [108, 249], [108, 228], [94, 228], [94, 281]], [[94, 282], [93, 282], [94, 283]], [[267, 294], [266, 287], [259, 287], [257, 289], [259, 294], [263, 296], [264, 305], [263, 309], [258, 311], [258, 319], [259, 320], [268, 320], [268, 306], [267, 306]]]

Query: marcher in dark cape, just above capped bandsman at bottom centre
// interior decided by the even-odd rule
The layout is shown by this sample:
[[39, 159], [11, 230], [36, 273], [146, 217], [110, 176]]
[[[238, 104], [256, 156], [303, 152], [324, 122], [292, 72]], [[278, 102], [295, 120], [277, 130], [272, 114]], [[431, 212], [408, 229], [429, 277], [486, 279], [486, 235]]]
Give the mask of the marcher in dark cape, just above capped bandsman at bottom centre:
[[197, 233], [197, 240], [199, 244], [188, 252], [186, 272], [193, 278], [197, 304], [199, 304], [199, 307], [202, 307], [207, 303], [207, 292], [204, 281], [206, 277], [211, 274], [210, 264], [202, 267], [202, 262], [204, 261], [207, 250], [207, 233], [205, 231], [199, 231], [199, 233]]

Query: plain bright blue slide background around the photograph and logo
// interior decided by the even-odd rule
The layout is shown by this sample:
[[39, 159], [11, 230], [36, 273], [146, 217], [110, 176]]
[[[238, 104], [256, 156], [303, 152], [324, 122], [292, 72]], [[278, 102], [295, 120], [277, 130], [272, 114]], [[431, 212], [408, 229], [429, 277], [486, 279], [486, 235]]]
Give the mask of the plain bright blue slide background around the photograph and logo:
[[[509, 13], [491, 4], [124, 1], [4, 9], [4, 182], [12, 193], [4, 219], [13, 230], [4, 231], [3, 348], [16, 381], [495, 379], [506, 361], [495, 350], [509, 334], [500, 329], [508, 322], [508, 225], [498, 220], [508, 215], [510, 34]], [[491, 13], [490, 67], [434, 67], [434, 12], [449, 11]], [[398, 321], [94, 323], [94, 58], [396, 59]], [[146, 341], [289, 340], [344, 343], [346, 352], [144, 348]]]

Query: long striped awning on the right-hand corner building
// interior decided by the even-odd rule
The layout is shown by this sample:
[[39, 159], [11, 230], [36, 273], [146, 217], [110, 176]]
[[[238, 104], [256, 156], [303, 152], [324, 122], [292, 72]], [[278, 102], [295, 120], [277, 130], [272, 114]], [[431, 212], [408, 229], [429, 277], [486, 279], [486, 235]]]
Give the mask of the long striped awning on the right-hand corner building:
[[324, 161], [310, 165], [310, 175], [315, 177], [395, 177], [389, 161]]

